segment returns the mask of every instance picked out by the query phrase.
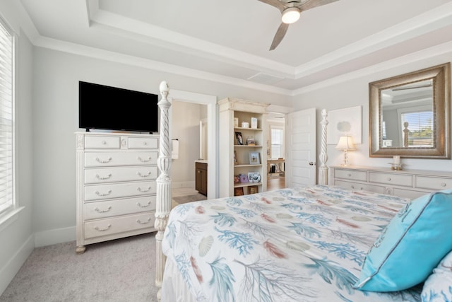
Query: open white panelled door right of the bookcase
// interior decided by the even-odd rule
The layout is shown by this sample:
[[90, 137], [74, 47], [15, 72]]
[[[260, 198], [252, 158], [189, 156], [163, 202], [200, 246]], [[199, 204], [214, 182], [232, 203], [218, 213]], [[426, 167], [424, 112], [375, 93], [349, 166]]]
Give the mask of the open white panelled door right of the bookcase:
[[287, 187], [316, 184], [316, 108], [292, 112], [286, 118]]

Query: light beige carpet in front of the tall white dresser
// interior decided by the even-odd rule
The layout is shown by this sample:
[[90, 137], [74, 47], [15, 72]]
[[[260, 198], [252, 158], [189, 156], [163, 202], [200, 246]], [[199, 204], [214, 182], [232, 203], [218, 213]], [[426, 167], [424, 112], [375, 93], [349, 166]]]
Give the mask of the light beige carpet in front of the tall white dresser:
[[157, 301], [155, 233], [87, 245], [35, 248], [0, 302]]

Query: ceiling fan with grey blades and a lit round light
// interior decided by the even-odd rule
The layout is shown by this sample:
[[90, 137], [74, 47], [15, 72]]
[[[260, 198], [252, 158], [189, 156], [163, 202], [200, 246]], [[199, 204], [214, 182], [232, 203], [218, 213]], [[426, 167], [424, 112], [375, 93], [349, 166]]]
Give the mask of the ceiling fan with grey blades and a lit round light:
[[307, 11], [308, 9], [329, 4], [338, 0], [259, 0], [263, 3], [275, 6], [281, 12], [281, 20], [283, 21], [276, 30], [275, 37], [271, 43], [270, 50], [274, 50], [280, 42], [283, 40], [285, 33], [287, 33], [287, 28], [291, 23], [295, 23], [299, 19], [299, 15], [302, 11]]

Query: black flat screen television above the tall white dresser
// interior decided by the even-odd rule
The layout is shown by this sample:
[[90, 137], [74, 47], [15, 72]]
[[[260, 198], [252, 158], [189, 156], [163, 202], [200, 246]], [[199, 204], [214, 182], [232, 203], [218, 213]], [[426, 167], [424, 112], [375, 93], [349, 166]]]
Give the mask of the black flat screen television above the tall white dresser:
[[78, 127], [158, 132], [158, 95], [78, 82]]

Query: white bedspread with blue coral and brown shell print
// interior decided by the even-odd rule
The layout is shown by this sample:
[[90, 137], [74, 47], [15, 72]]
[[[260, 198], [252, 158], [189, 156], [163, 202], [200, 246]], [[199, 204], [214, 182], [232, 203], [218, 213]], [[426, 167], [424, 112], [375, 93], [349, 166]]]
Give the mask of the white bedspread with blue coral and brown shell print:
[[420, 287], [353, 289], [407, 202], [321, 185], [192, 202], [172, 210], [162, 247], [196, 301], [420, 301]]

